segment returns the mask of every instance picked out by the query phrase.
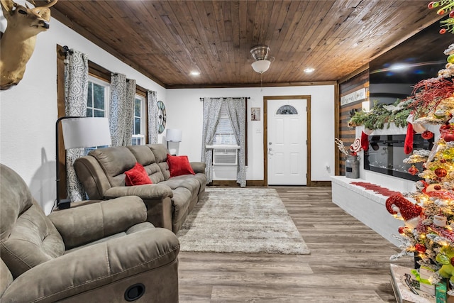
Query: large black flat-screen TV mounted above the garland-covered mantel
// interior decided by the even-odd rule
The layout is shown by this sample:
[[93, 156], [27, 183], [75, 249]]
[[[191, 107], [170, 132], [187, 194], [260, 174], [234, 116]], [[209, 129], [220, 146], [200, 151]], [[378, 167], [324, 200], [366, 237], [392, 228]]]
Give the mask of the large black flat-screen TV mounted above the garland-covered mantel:
[[371, 107], [374, 101], [393, 104], [410, 97], [416, 83], [437, 77], [438, 70], [445, 68], [448, 56], [443, 52], [454, 38], [438, 33], [440, 29], [437, 21], [370, 62]]

